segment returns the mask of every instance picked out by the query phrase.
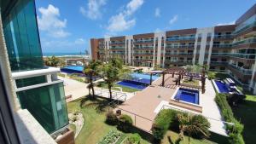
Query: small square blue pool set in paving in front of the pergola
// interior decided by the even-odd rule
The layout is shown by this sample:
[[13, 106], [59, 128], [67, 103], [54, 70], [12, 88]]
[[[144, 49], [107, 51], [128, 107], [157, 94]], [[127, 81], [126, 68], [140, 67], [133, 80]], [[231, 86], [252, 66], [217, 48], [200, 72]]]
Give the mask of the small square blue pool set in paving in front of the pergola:
[[198, 90], [179, 88], [174, 99], [199, 105], [199, 92]]

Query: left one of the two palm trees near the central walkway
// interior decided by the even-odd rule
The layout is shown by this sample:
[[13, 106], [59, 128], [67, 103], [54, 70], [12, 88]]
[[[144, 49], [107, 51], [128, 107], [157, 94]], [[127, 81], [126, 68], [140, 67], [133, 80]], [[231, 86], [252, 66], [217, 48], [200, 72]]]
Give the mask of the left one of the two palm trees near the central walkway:
[[101, 61], [92, 60], [89, 62], [87, 66], [84, 66], [84, 74], [85, 76], [87, 76], [90, 83], [87, 86], [87, 88], [89, 89], [89, 95], [90, 95], [90, 89], [92, 90], [92, 97], [95, 97], [93, 78], [98, 75], [99, 66], [101, 65], [102, 65]]

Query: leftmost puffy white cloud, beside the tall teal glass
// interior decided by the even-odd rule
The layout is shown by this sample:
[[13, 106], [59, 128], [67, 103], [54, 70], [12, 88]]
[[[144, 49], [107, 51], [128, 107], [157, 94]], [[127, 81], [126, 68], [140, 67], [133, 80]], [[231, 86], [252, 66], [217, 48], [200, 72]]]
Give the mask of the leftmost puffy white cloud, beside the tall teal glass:
[[48, 8], [40, 7], [38, 16], [38, 27], [40, 30], [48, 32], [51, 37], [67, 37], [70, 33], [64, 28], [67, 26], [67, 19], [60, 20], [60, 10], [49, 4]]

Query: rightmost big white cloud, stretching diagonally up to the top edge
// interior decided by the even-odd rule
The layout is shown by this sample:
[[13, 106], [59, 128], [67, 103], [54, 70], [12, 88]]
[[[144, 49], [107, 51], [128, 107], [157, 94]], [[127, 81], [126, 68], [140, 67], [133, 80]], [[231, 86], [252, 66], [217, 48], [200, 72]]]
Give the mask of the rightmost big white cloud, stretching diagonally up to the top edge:
[[131, 18], [137, 9], [143, 5], [143, 0], [131, 0], [127, 3], [125, 9], [123, 9], [119, 14], [113, 15], [108, 20], [107, 30], [109, 32], [123, 32], [130, 29], [136, 25], [135, 18]]

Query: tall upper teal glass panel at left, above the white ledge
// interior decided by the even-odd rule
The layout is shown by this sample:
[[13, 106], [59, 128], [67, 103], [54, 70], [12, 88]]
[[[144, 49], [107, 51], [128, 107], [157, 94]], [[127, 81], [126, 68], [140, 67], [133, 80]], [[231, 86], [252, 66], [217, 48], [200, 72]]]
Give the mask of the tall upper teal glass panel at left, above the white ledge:
[[3, 18], [3, 33], [12, 71], [43, 68], [33, 0], [15, 4], [9, 15]]

